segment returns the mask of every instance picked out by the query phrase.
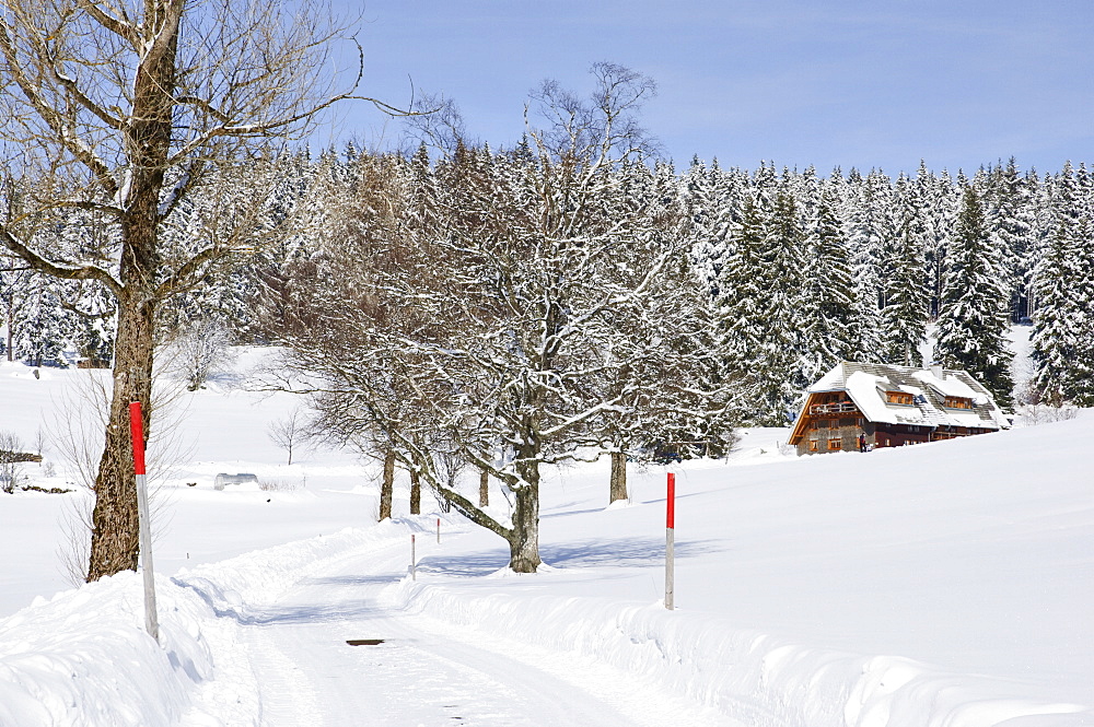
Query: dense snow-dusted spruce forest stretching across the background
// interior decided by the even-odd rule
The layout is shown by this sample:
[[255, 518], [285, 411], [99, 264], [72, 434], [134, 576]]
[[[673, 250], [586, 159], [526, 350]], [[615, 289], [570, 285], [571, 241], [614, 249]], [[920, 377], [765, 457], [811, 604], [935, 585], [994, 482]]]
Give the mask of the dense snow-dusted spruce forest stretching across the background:
[[[544, 274], [555, 266], [558, 278], [543, 284], [557, 289], [572, 262], [583, 280], [569, 282], [589, 289], [580, 295], [641, 289], [656, 315], [630, 321], [630, 331], [620, 320], [617, 332], [645, 339], [642, 355], [667, 360], [696, 353], [693, 347], [710, 354], [703, 375], [711, 390], [713, 379], [731, 383], [722, 411], [732, 423], [784, 424], [803, 388], [840, 360], [922, 365], [932, 325], [934, 360], [966, 368], [1010, 408], [1006, 331], [1032, 324], [1036, 371], [1019, 382], [1027, 384], [1021, 396], [1094, 406], [1094, 179], [1083, 164], [1041, 176], [1012, 160], [971, 177], [921, 166], [894, 179], [876, 169], [723, 169], [698, 157], [678, 172], [635, 160], [602, 165], [581, 188], [574, 169], [555, 167], [526, 139], [498, 152], [461, 144], [434, 162], [424, 146], [407, 157], [352, 145], [317, 159], [253, 162], [207, 197], [195, 195], [168, 233], [200, 237], [209, 216], [231, 207], [224, 185], [237, 185], [242, 197], [267, 177], [276, 192], [265, 226], [282, 234], [176, 296], [163, 312], [161, 339], [200, 330], [233, 343], [296, 341], [314, 351], [311, 339], [336, 329], [322, 321], [341, 320], [351, 301], [366, 308], [360, 298], [386, 275], [398, 273], [401, 292], [417, 300], [451, 293], [455, 271], [422, 241], [466, 236], [480, 245], [476, 254], [498, 258], [496, 269], [478, 271], [487, 275], [505, 265]], [[537, 195], [554, 184], [558, 199]], [[9, 208], [18, 198], [9, 187]], [[559, 219], [547, 219], [552, 214]], [[556, 242], [573, 249], [537, 246], [544, 224], [557, 225], [565, 239]], [[63, 255], [96, 234], [89, 214], [49, 221], [35, 237]], [[583, 247], [589, 241], [597, 243]], [[593, 249], [601, 259], [589, 259]], [[416, 270], [397, 270], [414, 257]], [[102, 290], [22, 269], [11, 257], [2, 268], [8, 360], [65, 365], [71, 356], [62, 352], [74, 351], [109, 361], [113, 310]], [[663, 273], [656, 281], [638, 280], [653, 268]], [[555, 292], [565, 316], [562, 298], [579, 293]], [[435, 303], [443, 312], [443, 301]], [[594, 343], [591, 332], [582, 336]]]

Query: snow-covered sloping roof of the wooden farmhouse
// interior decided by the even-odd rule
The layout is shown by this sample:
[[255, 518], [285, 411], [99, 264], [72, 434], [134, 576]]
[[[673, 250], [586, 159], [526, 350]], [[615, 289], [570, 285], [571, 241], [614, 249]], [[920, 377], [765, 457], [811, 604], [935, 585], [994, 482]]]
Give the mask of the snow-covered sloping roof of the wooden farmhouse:
[[[843, 362], [822, 376], [808, 391], [846, 391], [859, 411], [875, 423], [932, 429], [1008, 426], [988, 390], [965, 371]], [[891, 402], [888, 391], [910, 395], [911, 403]], [[947, 407], [947, 397], [967, 399], [971, 408]]]

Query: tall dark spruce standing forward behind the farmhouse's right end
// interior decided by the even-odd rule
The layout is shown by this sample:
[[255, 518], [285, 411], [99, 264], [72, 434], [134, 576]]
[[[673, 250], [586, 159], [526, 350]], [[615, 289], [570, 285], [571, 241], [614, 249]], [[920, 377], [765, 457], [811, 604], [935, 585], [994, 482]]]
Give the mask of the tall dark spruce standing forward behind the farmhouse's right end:
[[984, 206], [966, 185], [942, 288], [934, 357], [964, 368], [991, 391], [1003, 409], [1013, 403], [1006, 345], [1010, 290], [1000, 251], [991, 244]]

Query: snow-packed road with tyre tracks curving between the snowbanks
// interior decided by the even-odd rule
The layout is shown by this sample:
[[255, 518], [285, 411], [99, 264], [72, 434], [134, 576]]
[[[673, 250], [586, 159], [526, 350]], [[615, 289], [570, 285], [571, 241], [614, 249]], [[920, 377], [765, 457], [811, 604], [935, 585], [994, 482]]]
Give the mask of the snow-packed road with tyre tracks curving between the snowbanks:
[[240, 619], [259, 688], [257, 724], [740, 725], [651, 680], [496, 638], [489, 624], [459, 633], [385, 608], [379, 593], [405, 571], [401, 549], [372, 550]]

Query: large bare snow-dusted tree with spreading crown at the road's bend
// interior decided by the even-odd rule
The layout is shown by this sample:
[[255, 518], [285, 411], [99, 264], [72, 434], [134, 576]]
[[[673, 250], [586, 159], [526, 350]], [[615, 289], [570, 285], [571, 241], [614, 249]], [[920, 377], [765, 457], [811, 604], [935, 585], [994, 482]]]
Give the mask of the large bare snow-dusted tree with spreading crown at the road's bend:
[[[360, 160], [315, 284], [300, 289], [296, 317], [314, 324], [286, 338], [324, 379], [325, 422], [389, 443], [507, 540], [516, 572], [540, 563], [540, 467], [595, 457], [616, 413], [668, 400], [653, 374], [671, 353], [662, 314], [683, 253], [674, 216], [631, 188], [649, 178], [632, 117], [652, 83], [608, 65], [594, 77], [584, 102], [546, 84], [548, 128], [511, 154], [457, 143], [433, 181], [418, 156]], [[444, 480], [438, 442], [502, 483], [508, 521]]]

